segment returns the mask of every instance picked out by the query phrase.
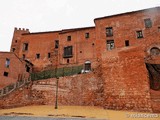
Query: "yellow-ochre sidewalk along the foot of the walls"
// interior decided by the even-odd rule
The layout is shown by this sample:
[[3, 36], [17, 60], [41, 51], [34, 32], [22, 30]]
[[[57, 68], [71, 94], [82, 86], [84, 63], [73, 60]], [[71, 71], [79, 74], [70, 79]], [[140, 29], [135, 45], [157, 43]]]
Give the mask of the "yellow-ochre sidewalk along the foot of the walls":
[[60, 118], [96, 118], [108, 120], [160, 120], [160, 114], [104, 110], [87, 106], [27, 106], [0, 110], [0, 116], [33, 116]]

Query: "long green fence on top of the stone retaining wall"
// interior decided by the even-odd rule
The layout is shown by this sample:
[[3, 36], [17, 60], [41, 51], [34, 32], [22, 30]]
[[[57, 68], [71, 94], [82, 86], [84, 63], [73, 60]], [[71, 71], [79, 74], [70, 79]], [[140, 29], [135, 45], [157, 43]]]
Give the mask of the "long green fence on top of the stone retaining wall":
[[63, 76], [71, 76], [75, 74], [80, 74], [83, 69], [83, 65], [81, 66], [72, 66], [72, 67], [63, 67], [52, 70], [46, 70], [38, 73], [31, 73], [31, 80], [42, 80], [48, 78], [56, 78]]

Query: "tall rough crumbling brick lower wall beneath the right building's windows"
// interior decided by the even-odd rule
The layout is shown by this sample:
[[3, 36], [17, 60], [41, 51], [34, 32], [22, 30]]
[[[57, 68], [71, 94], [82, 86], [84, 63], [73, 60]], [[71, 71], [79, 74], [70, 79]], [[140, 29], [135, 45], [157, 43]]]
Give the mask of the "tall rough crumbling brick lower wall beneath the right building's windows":
[[104, 106], [117, 110], [152, 111], [144, 53], [138, 47], [102, 57]]

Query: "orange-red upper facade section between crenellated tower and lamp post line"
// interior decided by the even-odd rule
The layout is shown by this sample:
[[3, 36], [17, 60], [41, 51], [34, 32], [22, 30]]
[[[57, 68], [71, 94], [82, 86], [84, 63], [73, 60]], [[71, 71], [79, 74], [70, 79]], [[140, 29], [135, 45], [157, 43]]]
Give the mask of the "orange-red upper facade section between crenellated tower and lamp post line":
[[[46, 32], [38, 34], [24, 34], [21, 38], [19, 57], [29, 60], [34, 64], [34, 71], [41, 71], [47, 67], [55, 66], [55, 40], [59, 40], [57, 32]], [[23, 50], [23, 44], [28, 43], [28, 50]], [[48, 58], [50, 53], [50, 58]], [[36, 58], [40, 54], [40, 58]]]

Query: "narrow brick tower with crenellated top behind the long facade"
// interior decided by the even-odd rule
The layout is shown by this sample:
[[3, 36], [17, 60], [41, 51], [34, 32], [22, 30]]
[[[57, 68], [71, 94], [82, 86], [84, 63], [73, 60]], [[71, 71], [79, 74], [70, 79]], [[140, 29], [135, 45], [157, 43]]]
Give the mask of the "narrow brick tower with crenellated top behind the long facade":
[[24, 34], [24, 33], [30, 33], [29, 29], [24, 29], [24, 28], [22, 28], [22, 29], [15, 28], [14, 29], [10, 52], [14, 52], [16, 55], [18, 55], [19, 49], [20, 49], [21, 37], [22, 37], [22, 34]]

